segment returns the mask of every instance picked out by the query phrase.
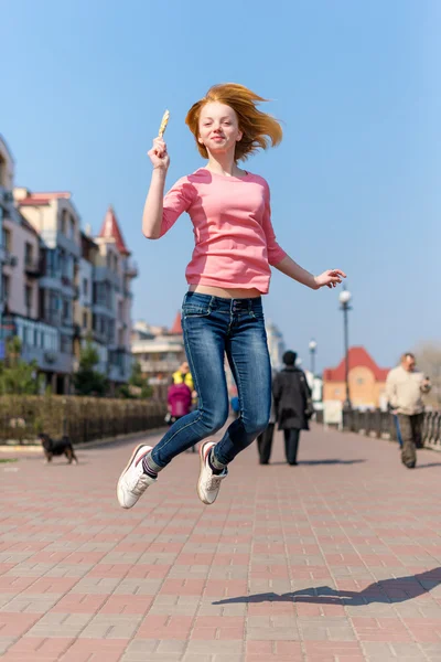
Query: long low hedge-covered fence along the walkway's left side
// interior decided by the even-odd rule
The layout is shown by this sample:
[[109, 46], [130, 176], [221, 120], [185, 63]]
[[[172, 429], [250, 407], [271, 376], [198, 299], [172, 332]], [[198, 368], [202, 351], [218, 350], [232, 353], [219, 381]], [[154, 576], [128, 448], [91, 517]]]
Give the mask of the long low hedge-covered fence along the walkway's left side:
[[68, 435], [74, 444], [141, 433], [164, 425], [159, 401], [121, 401], [75, 396], [0, 397], [0, 444], [29, 444], [43, 431]]

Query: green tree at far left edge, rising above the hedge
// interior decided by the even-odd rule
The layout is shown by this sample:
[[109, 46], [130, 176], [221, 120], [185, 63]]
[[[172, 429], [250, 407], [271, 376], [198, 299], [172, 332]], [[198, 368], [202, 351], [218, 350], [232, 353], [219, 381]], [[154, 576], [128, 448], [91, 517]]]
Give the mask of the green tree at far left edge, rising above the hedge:
[[37, 363], [26, 363], [21, 359], [21, 340], [18, 335], [8, 339], [6, 355], [4, 361], [0, 361], [0, 395], [39, 394], [41, 377], [37, 377]]

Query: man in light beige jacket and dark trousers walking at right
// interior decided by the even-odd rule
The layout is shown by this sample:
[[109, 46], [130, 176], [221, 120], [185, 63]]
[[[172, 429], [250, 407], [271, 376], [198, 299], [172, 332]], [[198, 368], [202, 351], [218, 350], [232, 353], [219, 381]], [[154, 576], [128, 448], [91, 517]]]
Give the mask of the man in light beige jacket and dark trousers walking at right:
[[424, 403], [422, 395], [431, 388], [429, 377], [417, 371], [411, 352], [401, 356], [386, 378], [386, 397], [397, 417], [398, 439], [401, 438], [401, 461], [408, 469], [417, 465], [417, 448], [422, 448], [422, 424]]

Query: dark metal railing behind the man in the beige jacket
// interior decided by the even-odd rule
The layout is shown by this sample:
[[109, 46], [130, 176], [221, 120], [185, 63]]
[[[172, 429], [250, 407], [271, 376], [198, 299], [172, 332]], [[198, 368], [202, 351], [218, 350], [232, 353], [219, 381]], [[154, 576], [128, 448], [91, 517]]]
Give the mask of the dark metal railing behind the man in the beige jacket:
[[[315, 420], [323, 423], [323, 412], [316, 413]], [[380, 409], [343, 410], [343, 429], [368, 437], [397, 440], [395, 417], [389, 412]], [[422, 439], [427, 448], [441, 451], [441, 410], [424, 413]]]

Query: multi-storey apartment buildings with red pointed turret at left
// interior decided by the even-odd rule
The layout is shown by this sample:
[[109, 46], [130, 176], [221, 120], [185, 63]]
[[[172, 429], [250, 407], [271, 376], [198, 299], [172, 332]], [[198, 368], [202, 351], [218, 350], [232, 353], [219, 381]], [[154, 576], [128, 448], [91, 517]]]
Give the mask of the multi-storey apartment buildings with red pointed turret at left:
[[0, 137], [0, 352], [18, 334], [45, 385], [71, 393], [80, 346], [92, 337], [112, 389], [127, 382], [138, 271], [111, 207], [94, 239], [82, 231], [69, 192], [14, 186], [14, 162]]

